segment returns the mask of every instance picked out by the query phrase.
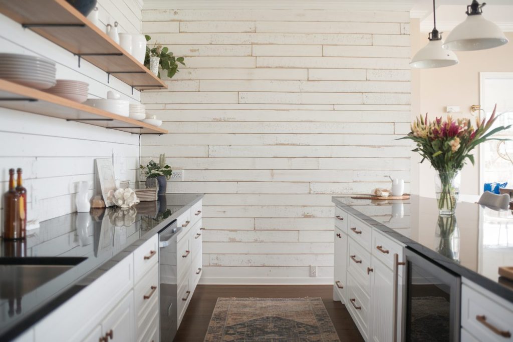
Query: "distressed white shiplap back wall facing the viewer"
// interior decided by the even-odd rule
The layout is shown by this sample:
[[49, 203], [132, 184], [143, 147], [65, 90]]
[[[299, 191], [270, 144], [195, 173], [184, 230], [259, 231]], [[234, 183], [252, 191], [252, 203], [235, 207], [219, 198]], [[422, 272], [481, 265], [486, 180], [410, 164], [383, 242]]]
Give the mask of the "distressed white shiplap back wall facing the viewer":
[[144, 10], [143, 32], [186, 56], [142, 94], [171, 134], [141, 157], [206, 193], [203, 283], [331, 283], [331, 195], [409, 182], [409, 13]]

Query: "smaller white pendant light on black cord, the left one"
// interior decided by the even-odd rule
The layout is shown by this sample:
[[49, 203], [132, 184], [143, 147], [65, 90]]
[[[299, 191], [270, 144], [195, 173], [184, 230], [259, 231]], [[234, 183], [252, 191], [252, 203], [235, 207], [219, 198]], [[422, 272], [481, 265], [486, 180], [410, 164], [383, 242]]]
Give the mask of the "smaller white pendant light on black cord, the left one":
[[411, 59], [412, 68], [443, 68], [458, 64], [458, 57], [452, 51], [442, 48], [442, 33], [437, 30], [435, 0], [433, 0], [433, 30], [428, 35], [429, 43]]

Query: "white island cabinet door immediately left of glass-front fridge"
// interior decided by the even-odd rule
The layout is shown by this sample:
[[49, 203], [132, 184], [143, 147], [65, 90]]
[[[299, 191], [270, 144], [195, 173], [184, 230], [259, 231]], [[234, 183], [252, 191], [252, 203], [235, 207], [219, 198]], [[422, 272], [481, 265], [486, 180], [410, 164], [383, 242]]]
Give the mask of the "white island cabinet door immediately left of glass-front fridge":
[[393, 339], [393, 271], [372, 258], [370, 294], [370, 329], [373, 342]]

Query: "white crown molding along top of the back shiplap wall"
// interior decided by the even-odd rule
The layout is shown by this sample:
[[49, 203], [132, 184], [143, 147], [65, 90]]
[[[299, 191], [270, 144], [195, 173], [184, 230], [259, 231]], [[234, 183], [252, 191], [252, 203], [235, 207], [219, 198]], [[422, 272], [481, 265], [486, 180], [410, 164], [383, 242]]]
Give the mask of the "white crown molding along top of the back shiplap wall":
[[358, 0], [144, 0], [143, 10], [152, 9], [288, 9], [288, 10], [353, 10], [409, 11], [412, 1]]

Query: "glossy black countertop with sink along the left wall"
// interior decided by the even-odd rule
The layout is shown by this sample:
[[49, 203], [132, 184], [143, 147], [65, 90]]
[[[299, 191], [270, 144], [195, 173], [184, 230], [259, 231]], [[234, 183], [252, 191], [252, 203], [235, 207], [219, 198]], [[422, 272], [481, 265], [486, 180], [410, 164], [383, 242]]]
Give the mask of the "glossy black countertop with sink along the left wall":
[[[128, 210], [110, 207], [41, 223], [23, 242], [0, 244], [0, 340], [11, 340], [116, 265], [203, 197], [166, 194]], [[38, 285], [16, 263], [74, 265]], [[43, 274], [42, 273], [42, 274]], [[41, 275], [44, 276], [44, 275]], [[40, 280], [40, 279], [38, 279]]]

